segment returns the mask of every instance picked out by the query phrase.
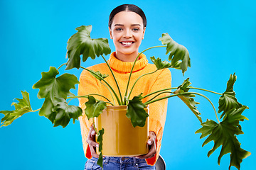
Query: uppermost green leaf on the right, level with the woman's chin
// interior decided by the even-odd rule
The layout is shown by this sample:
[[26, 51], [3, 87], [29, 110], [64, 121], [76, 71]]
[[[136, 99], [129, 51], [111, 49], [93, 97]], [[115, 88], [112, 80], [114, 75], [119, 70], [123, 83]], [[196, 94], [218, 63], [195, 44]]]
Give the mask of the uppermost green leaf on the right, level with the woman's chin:
[[163, 45], [167, 45], [166, 55], [170, 52], [169, 61], [171, 61], [172, 67], [181, 69], [184, 75], [188, 67], [191, 67], [190, 57], [186, 47], [175, 42], [168, 33], [162, 34], [159, 40], [161, 40]]

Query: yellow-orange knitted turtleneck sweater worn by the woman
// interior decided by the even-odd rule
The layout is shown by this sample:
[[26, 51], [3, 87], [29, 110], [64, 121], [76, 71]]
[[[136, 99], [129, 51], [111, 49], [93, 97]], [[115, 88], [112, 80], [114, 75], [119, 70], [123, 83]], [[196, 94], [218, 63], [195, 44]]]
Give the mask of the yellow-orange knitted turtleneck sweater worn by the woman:
[[[119, 89], [121, 90], [122, 96], [124, 96], [127, 81], [129, 79], [129, 72], [132, 69], [133, 62], [122, 62], [115, 57], [115, 52], [112, 52], [110, 55], [110, 60], [107, 61], [110, 64], [114, 72], [114, 76], [117, 79], [117, 83], [119, 84]], [[112, 86], [114, 91], [117, 91], [117, 86], [112, 77], [110, 69], [107, 67], [106, 63], [96, 64], [92, 67], [88, 67], [87, 69], [91, 69], [95, 72], [100, 71], [102, 74], [108, 74], [109, 77], [105, 78], [105, 80]], [[145, 55], [140, 55], [139, 60], [137, 60], [135, 67], [132, 72], [132, 77], [129, 83], [129, 89], [131, 89], [134, 81], [137, 80], [142, 74], [146, 74], [149, 72], [154, 72], [156, 67], [154, 64], [149, 64], [148, 60], [146, 60]], [[149, 74], [137, 81], [137, 84], [134, 86], [132, 91], [133, 96], [138, 96], [143, 93], [143, 96], [146, 94], [150, 94], [151, 92], [158, 91], [160, 89], [167, 89], [171, 87], [171, 72], [169, 69], [161, 69], [154, 74]], [[105, 87], [105, 85], [101, 84], [99, 80], [84, 70], [80, 75], [80, 84], [78, 86], [78, 96], [84, 96], [87, 94], [101, 94], [112, 101], [112, 96], [110, 95], [110, 91]], [[167, 96], [168, 94], [163, 94], [161, 96]], [[105, 101], [104, 98], [97, 97], [97, 99]], [[144, 98], [143, 103], [148, 100], [148, 98]], [[86, 98], [79, 98], [80, 107], [82, 111], [85, 109]], [[112, 103], [117, 101], [112, 101]], [[161, 148], [161, 139], [164, 131], [164, 123], [166, 120], [166, 111], [167, 111], [167, 100], [157, 101], [155, 103], [151, 103], [149, 105], [149, 131], [153, 131], [156, 134], [156, 156], [151, 159], [146, 159], [148, 164], [154, 164], [159, 157], [159, 152]], [[88, 158], [90, 155], [87, 152], [87, 134], [89, 132], [89, 128], [92, 125], [92, 120], [88, 120], [86, 115], [83, 113], [79, 118], [80, 127], [82, 132], [82, 144], [85, 151], [85, 156]], [[89, 147], [88, 147], [89, 148]], [[90, 158], [90, 157], [89, 157]]]

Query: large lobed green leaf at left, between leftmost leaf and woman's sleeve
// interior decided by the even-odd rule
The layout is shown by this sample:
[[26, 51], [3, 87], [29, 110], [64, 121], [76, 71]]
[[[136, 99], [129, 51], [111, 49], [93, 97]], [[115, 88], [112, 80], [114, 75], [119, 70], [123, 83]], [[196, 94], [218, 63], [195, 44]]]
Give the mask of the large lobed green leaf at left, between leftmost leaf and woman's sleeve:
[[[56, 77], [58, 74], [59, 72], [55, 67], [50, 67], [49, 72], [42, 72], [42, 78], [33, 85], [33, 89], [39, 89], [38, 98], [45, 98], [39, 115], [46, 116], [52, 123], [55, 123], [55, 126], [58, 124], [65, 127], [68, 121], [67, 117], [60, 116], [63, 110], [57, 108], [60, 107], [60, 100], [65, 105], [64, 101], [68, 96], [73, 96], [70, 89], [75, 89], [75, 84], [79, 84], [79, 81], [73, 74], [65, 73]], [[58, 111], [60, 111], [59, 114]]]

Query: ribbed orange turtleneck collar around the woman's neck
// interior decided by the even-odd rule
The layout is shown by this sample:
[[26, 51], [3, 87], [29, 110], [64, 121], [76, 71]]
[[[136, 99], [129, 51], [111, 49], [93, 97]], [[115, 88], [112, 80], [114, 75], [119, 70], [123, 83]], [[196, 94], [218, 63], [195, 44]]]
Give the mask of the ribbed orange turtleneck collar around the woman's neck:
[[[118, 72], [131, 72], [132, 66], [134, 62], [123, 62], [121, 60], [118, 60], [115, 52], [112, 52], [110, 55], [110, 60], [107, 62], [110, 64], [110, 67]], [[132, 72], [137, 72], [139, 69], [143, 69], [148, 64], [148, 60], [146, 60], [146, 55], [141, 54], [139, 55], [139, 60], [134, 65], [134, 69]]]

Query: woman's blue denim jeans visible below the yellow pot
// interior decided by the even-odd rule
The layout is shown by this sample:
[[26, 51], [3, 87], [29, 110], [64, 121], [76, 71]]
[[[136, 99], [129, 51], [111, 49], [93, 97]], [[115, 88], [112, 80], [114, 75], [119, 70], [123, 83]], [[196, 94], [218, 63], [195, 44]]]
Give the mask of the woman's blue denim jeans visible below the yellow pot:
[[[92, 157], [85, 163], [85, 170], [102, 168], [97, 164], [97, 158]], [[137, 159], [134, 157], [105, 157], [103, 158], [103, 169], [104, 170], [140, 170], [140, 169], [156, 169], [155, 166], [146, 164], [145, 159]]]

